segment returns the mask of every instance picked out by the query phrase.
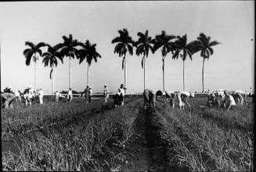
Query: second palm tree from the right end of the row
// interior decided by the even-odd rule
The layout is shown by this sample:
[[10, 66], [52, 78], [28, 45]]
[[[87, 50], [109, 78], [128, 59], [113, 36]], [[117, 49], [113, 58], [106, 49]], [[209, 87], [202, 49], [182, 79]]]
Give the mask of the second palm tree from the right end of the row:
[[175, 41], [175, 53], [172, 56], [172, 59], [178, 59], [178, 56], [182, 58], [183, 61], [183, 91], [185, 91], [185, 60], [186, 57], [189, 56], [189, 59], [192, 60], [192, 55], [194, 52], [194, 48], [196, 46], [197, 42], [196, 41], [191, 41], [187, 44], [187, 38], [186, 34], [183, 35], [182, 37], [178, 36], [177, 40]]

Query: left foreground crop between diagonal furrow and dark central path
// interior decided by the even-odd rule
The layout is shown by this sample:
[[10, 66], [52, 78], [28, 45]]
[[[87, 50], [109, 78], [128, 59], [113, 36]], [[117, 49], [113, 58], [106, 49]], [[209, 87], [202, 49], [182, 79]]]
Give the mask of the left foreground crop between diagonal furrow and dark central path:
[[120, 144], [131, 137], [132, 123], [138, 114], [136, 101], [119, 109], [86, 116], [79, 123], [37, 134], [36, 138], [24, 138], [20, 154], [2, 153], [3, 170], [113, 170], [115, 164], [99, 163], [94, 157], [102, 152], [110, 139]]

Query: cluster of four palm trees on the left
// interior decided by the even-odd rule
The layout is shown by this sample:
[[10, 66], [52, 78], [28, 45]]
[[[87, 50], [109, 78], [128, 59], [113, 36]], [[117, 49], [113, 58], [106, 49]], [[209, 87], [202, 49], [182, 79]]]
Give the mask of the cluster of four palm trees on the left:
[[[88, 71], [89, 66], [92, 64], [92, 59], [97, 62], [97, 58], [101, 58], [96, 51], [96, 44], [92, 44], [88, 40], [86, 40], [85, 43], [82, 43], [73, 39], [72, 34], [70, 34], [68, 38], [63, 36], [63, 43], [54, 46], [45, 44], [45, 42], [40, 42], [37, 45], [34, 45], [30, 41], [26, 41], [25, 45], [29, 46], [29, 48], [23, 51], [23, 55], [26, 58], [26, 65], [29, 66], [31, 64], [31, 59], [34, 61], [34, 91], [36, 91], [36, 63], [39, 56], [43, 58], [42, 63], [51, 68], [50, 79], [52, 79], [52, 94], [54, 93], [54, 68], [58, 65], [58, 60], [63, 63], [64, 57], [69, 58], [69, 87], [71, 88], [71, 58], [74, 59], [76, 57], [79, 59], [80, 64], [86, 59], [86, 62], [88, 63], [87, 84], [89, 84]], [[45, 46], [48, 47], [48, 50], [47, 52], [42, 53], [41, 48]]]

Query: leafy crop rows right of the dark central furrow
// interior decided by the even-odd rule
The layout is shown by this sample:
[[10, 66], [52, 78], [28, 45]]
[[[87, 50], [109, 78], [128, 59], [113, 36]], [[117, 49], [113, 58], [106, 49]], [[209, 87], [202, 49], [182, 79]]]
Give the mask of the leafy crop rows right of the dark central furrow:
[[[222, 114], [219, 112], [216, 115], [216, 111], [215, 114], [211, 111], [207, 113], [208, 116]], [[253, 169], [250, 130], [241, 131], [224, 125], [219, 127], [218, 121], [202, 117], [197, 110], [181, 112], [161, 102], [157, 102], [156, 115], [163, 119], [161, 133], [168, 140], [168, 156], [172, 165], [189, 167], [190, 170]], [[241, 114], [241, 118], [245, 115]]]

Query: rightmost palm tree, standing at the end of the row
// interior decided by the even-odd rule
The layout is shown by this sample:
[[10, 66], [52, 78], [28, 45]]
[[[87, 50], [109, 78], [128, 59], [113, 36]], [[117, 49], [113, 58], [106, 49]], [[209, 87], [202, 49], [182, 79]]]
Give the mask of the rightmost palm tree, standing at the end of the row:
[[214, 50], [212, 46], [220, 44], [218, 41], [210, 41], [211, 37], [207, 37], [204, 33], [200, 33], [197, 37], [197, 50], [201, 51], [200, 56], [203, 57], [203, 68], [202, 68], [202, 85], [204, 92], [204, 61], [209, 59], [213, 55]]

